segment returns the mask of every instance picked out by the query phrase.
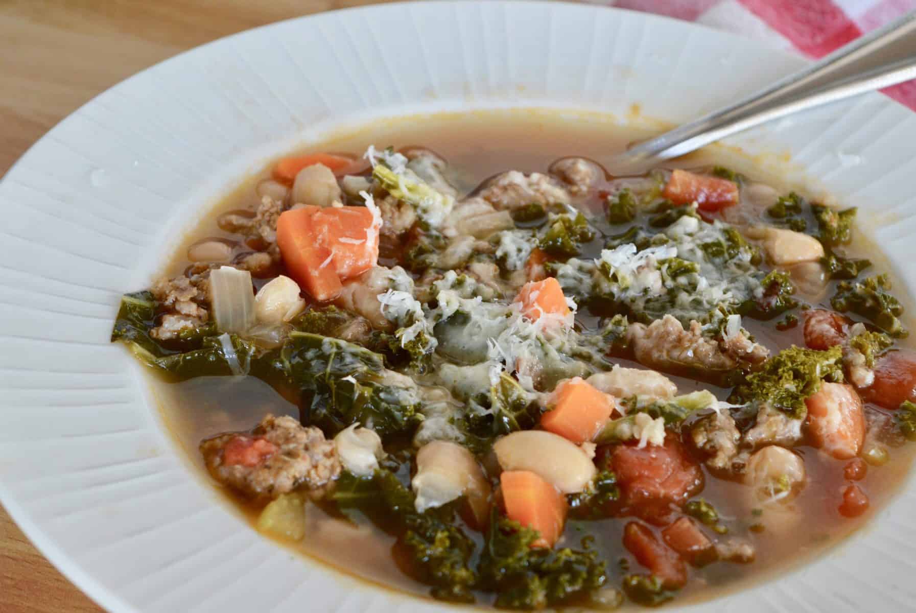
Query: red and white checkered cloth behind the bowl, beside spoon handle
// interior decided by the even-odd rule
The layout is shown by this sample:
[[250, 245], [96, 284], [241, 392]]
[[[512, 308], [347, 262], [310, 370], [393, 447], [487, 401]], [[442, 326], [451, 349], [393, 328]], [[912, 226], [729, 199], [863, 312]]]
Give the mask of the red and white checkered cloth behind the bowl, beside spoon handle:
[[[916, 9], [916, 0], [599, 0], [594, 4], [695, 21], [780, 49], [796, 49], [811, 58], [820, 58]], [[916, 81], [884, 93], [916, 110]]]

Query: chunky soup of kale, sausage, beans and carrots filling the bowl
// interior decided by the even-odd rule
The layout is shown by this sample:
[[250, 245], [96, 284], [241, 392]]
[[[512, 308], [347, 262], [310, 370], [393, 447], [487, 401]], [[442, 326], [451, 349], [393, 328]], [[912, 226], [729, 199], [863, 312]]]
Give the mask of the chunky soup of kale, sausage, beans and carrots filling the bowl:
[[499, 608], [747, 585], [893, 495], [916, 354], [855, 211], [723, 150], [608, 174], [639, 136], [447, 115], [279, 159], [114, 340], [257, 530], [353, 575]]

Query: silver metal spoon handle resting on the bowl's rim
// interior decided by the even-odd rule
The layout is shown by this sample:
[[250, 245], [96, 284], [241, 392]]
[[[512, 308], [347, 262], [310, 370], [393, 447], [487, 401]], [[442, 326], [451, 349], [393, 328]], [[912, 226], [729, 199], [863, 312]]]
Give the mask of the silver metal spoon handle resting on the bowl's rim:
[[802, 71], [736, 104], [638, 143], [612, 162], [615, 174], [637, 174], [657, 162], [821, 104], [916, 78], [916, 11], [836, 49]]

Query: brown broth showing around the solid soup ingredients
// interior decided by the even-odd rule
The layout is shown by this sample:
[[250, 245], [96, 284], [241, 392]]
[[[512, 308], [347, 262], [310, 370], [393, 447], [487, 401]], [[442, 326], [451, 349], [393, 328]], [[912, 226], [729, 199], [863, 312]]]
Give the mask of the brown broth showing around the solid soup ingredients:
[[[350, 151], [359, 153], [369, 144], [376, 147], [392, 145], [401, 148], [422, 145], [431, 148], [447, 159], [450, 165], [461, 170], [459, 189], [467, 192], [481, 181], [503, 170], [546, 171], [554, 159], [564, 156], [583, 156], [606, 163], [628, 142], [644, 137], [648, 129], [624, 128], [610, 118], [598, 115], [561, 115], [498, 111], [467, 115], [441, 115], [392, 120], [362, 131], [333, 137], [321, 145], [306, 150]], [[711, 163], [724, 163], [746, 173], [755, 181], [767, 182], [780, 192], [797, 185], [788, 185], [770, 172], [755, 169], [754, 160], [726, 148], [709, 148], [680, 159], [672, 166], [698, 167]], [[269, 176], [267, 170], [247, 178], [237, 189], [218, 203], [187, 236], [180, 246], [178, 256], [164, 270], [166, 274], [180, 274], [189, 265], [184, 258], [187, 246], [202, 237], [231, 237], [218, 228], [215, 218], [228, 210], [243, 209], [256, 204], [254, 186]], [[855, 203], [845, 203], [846, 205]], [[877, 249], [864, 238], [847, 250], [850, 254], [867, 253], [873, 261]], [[875, 269], [889, 270], [880, 260]], [[897, 285], [898, 289], [902, 285]], [[828, 291], [828, 296], [832, 292]], [[898, 292], [899, 294], [901, 292]], [[909, 301], [905, 301], [909, 306]], [[908, 322], [909, 323], [909, 322]], [[771, 349], [802, 345], [802, 326], [784, 333], [776, 333], [771, 323], [745, 320], [748, 329], [758, 340]], [[775, 353], [775, 352], [774, 352]], [[625, 363], [625, 360], [621, 360]], [[694, 389], [709, 389], [684, 378], [672, 378], [682, 393]], [[251, 428], [267, 412], [299, 416], [298, 408], [281, 397], [274, 389], [256, 378], [195, 378], [182, 383], [155, 382], [164, 421], [174, 434], [183, 453], [187, 454], [195, 469], [208, 478], [203, 470], [197, 445], [203, 438], [219, 432], [242, 431]], [[727, 393], [721, 390], [720, 395]], [[719, 513], [727, 519], [736, 518], [729, 536], [746, 537], [757, 548], [757, 559], [752, 564], [712, 564], [701, 570], [691, 570], [688, 586], [681, 590], [676, 603], [695, 602], [721, 596], [725, 590], [747, 587], [761, 578], [771, 578], [777, 573], [809, 562], [815, 555], [829, 552], [834, 545], [867, 523], [876, 509], [880, 509], [898, 492], [909, 473], [912, 448], [907, 445], [889, 449], [890, 461], [882, 467], [869, 466], [866, 478], [859, 482], [868, 493], [871, 506], [864, 517], [849, 520], [839, 516], [836, 507], [840, 501], [845, 462], [812, 448], [799, 449], [805, 459], [808, 484], [792, 505], [802, 512], [781, 515], [772, 510], [755, 517], [747, 502], [748, 488], [706, 475], [702, 497], [714, 502]], [[245, 517], [256, 519], [257, 509], [239, 505]], [[392, 586], [415, 594], [426, 595], [428, 587], [401, 574], [391, 561], [393, 539], [369, 526], [354, 527], [325, 516], [314, 506], [309, 508], [310, 531], [305, 542], [290, 546], [347, 574], [367, 579], [378, 585]], [[748, 531], [752, 523], [764, 526], [761, 532]], [[602, 520], [602, 538], [596, 547], [608, 561], [609, 585], [617, 585], [620, 572], [617, 561], [626, 558], [632, 570], [639, 565], [621, 546], [624, 520]], [[566, 542], [576, 546], [582, 536], [583, 522], [571, 521], [565, 532]], [[707, 589], [709, 586], [712, 589]]]

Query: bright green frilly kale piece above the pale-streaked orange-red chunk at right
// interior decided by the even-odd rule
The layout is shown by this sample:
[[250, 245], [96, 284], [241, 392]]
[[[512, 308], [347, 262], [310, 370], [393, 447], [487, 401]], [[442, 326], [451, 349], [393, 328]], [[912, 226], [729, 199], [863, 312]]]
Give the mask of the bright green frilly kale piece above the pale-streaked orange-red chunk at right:
[[730, 402], [763, 403], [802, 418], [805, 400], [821, 389], [821, 381], [842, 382], [843, 349], [839, 345], [826, 351], [791, 346], [770, 357], [757, 371], [748, 374], [732, 392]]

